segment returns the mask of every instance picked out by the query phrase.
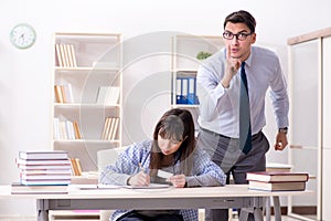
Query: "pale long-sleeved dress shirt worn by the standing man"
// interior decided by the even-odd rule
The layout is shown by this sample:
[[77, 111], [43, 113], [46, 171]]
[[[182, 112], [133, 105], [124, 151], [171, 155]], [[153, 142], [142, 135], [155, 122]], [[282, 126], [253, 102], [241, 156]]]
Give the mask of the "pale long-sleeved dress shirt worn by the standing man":
[[[224, 88], [226, 51], [222, 49], [209, 57], [199, 69], [196, 83], [200, 101], [199, 124], [201, 127], [224, 136], [239, 137], [241, 70]], [[270, 50], [252, 46], [245, 61], [248, 83], [252, 134], [266, 125], [265, 96], [269, 91], [278, 128], [288, 126], [289, 101], [287, 84], [278, 56]]]

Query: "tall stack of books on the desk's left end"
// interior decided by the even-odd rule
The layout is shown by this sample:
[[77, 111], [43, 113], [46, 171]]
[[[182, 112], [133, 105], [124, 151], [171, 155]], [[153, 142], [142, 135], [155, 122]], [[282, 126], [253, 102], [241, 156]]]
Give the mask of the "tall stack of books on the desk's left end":
[[72, 166], [63, 150], [20, 151], [17, 165], [23, 186], [67, 186], [71, 183]]

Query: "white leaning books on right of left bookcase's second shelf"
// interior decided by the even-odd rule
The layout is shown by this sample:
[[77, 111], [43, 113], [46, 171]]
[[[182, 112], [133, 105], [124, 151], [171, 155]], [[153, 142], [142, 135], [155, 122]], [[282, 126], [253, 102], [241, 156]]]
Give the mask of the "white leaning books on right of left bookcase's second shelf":
[[118, 86], [100, 86], [97, 95], [97, 104], [117, 105], [119, 97]]

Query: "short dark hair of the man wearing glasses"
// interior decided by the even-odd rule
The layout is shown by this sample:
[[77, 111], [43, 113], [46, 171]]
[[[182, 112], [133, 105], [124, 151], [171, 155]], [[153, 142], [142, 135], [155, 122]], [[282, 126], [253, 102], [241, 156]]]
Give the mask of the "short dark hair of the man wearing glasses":
[[241, 11], [235, 11], [235, 12], [228, 14], [224, 21], [224, 29], [225, 29], [225, 25], [227, 22], [245, 23], [252, 33], [255, 32], [256, 21], [255, 21], [254, 17], [247, 11], [241, 10]]

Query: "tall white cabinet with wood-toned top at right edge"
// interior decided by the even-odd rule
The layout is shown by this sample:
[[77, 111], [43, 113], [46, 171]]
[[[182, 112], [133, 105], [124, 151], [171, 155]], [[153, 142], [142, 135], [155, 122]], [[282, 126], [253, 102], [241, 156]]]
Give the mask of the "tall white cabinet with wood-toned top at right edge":
[[[331, 161], [330, 76], [331, 28], [288, 40], [290, 64], [290, 151], [295, 171], [307, 171], [313, 197], [292, 197], [289, 213], [305, 220], [328, 220]], [[329, 194], [328, 194], [329, 193]], [[295, 206], [316, 208], [314, 215], [298, 214]]]

